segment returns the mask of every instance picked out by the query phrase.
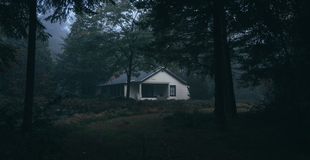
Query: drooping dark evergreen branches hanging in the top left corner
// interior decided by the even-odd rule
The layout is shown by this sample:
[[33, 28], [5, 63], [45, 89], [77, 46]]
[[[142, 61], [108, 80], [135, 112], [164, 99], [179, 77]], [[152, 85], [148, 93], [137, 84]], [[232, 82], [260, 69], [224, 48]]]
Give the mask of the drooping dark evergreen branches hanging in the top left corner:
[[[112, 0], [87, 0], [87, 1], [38, 1], [37, 12], [39, 14], [48, 14], [53, 10], [52, 14], [44, 20], [56, 22], [65, 22], [70, 17], [71, 12], [80, 15], [83, 13], [95, 14], [93, 11], [96, 6], [101, 6], [102, 3], [115, 5]], [[85, 5], [87, 4], [87, 5]], [[1, 1], [0, 2], [0, 31], [7, 37], [21, 39], [28, 37], [29, 25], [29, 4], [24, 1]], [[43, 24], [37, 20], [37, 30], [40, 39], [49, 37], [49, 34], [44, 33], [46, 29]]]

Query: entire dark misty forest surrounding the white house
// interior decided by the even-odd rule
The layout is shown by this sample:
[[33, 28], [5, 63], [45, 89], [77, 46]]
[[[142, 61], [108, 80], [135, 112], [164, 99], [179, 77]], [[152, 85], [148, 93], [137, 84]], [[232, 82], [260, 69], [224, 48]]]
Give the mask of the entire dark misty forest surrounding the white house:
[[[227, 117], [238, 117], [234, 88], [263, 87], [264, 111], [296, 120], [307, 133], [306, 0], [31, 2], [0, 2], [0, 94], [24, 98], [23, 133], [31, 132], [34, 96], [105, 99], [95, 95], [96, 85], [120, 72], [127, 74], [129, 94], [130, 77], [154, 66], [173, 68], [175, 74], [186, 71], [189, 81], [214, 80], [214, 114], [221, 131], [229, 128]], [[16, 14], [4, 12], [16, 6]], [[52, 9], [45, 20], [64, 23], [71, 12], [77, 18], [63, 39], [64, 52], [54, 57], [41, 42], [50, 35], [37, 18]], [[20, 23], [7, 23], [18, 16]], [[28, 40], [28, 45], [16, 40]], [[199, 88], [189, 90], [197, 99]]]

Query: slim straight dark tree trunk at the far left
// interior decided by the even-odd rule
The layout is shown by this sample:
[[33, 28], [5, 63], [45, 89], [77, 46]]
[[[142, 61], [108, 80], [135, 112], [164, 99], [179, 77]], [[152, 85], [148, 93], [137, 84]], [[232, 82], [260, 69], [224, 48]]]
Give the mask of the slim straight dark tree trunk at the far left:
[[27, 76], [24, 104], [24, 118], [22, 133], [32, 132], [32, 106], [34, 87], [34, 66], [36, 51], [36, 23], [37, 23], [37, 1], [29, 0], [29, 36], [27, 55]]

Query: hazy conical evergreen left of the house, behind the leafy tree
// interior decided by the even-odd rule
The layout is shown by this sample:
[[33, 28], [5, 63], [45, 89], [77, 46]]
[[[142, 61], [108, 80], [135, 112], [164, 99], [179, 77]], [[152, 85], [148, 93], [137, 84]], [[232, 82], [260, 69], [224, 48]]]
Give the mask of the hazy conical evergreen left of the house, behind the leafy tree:
[[98, 49], [101, 38], [94, 21], [88, 15], [77, 16], [64, 39], [64, 52], [56, 57], [56, 79], [63, 92], [93, 95], [95, 86], [115, 72], [113, 60]]

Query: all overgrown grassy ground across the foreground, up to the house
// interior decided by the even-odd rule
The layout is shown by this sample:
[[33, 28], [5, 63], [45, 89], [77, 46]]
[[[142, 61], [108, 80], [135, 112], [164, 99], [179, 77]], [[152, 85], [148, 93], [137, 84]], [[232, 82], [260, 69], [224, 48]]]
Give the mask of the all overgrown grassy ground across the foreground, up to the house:
[[[6, 106], [7, 115], [19, 110], [22, 115], [21, 99], [9, 97], [1, 99], [3, 101], [0, 106]], [[2, 103], [4, 101], [5, 103]], [[18, 121], [22, 117], [14, 117], [14, 129], [10, 129], [4, 121], [0, 122], [2, 130], [0, 154], [5, 159], [66, 159], [72, 154], [81, 154], [81, 150], [90, 153], [90, 150], [84, 150], [89, 147], [96, 148], [91, 155], [87, 155], [89, 158], [94, 158], [99, 153], [102, 155], [97, 150], [98, 147], [102, 147], [105, 151], [111, 151], [106, 155], [107, 158], [124, 159], [132, 154], [142, 156], [143, 152], [148, 158], [157, 158], [163, 155], [162, 153], [179, 155], [174, 152], [176, 146], [185, 151], [188, 148], [184, 146], [199, 145], [203, 150], [207, 147], [224, 150], [224, 153], [229, 151], [238, 158], [243, 155], [244, 158], [240, 159], [252, 157], [304, 159], [308, 156], [309, 148], [306, 146], [308, 141], [296, 126], [295, 120], [281, 115], [274, 116], [273, 112], [269, 114], [247, 111], [239, 113], [237, 119], [228, 117], [230, 132], [218, 132], [215, 130], [212, 113], [214, 107], [211, 103], [197, 100], [99, 101], [60, 98], [48, 100], [38, 97], [34, 101], [34, 116], [39, 115], [35, 118], [39, 121], [34, 120], [33, 134], [21, 136]], [[72, 110], [73, 113], [70, 115]], [[77, 114], [78, 112], [80, 113]], [[150, 113], [161, 114], [156, 117], [158, 119], [151, 119], [146, 115]], [[138, 116], [133, 116], [108, 121], [110, 118], [139, 114], [144, 114], [141, 117], [145, 119], [134, 120]], [[44, 117], [51, 117], [53, 120], [51, 123], [40, 121]], [[81, 141], [87, 142], [85, 143], [87, 146], [76, 148], [77, 142], [82, 143]], [[132, 147], [133, 144], [135, 147]], [[160, 153], [152, 152], [157, 147]], [[110, 154], [112, 152], [124, 154]], [[199, 151], [197, 155], [201, 157], [202, 153], [205, 152]], [[226, 154], [223, 159], [225, 158]]]

